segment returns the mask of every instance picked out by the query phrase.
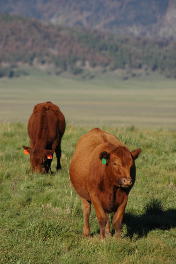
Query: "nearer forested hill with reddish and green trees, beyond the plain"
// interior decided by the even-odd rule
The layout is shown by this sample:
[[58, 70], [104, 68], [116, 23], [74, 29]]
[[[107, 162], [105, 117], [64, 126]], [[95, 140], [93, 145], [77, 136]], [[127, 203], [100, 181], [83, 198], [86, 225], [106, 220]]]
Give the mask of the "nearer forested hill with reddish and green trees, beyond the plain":
[[82, 73], [88, 65], [110, 71], [118, 68], [159, 71], [176, 77], [176, 44], [172, 40], [119, 37], [9, 15], [0, 16], [0, 32], [1, 77], [7, 74], [4, 65], [32, 65], [34, 61], [74, 74]]

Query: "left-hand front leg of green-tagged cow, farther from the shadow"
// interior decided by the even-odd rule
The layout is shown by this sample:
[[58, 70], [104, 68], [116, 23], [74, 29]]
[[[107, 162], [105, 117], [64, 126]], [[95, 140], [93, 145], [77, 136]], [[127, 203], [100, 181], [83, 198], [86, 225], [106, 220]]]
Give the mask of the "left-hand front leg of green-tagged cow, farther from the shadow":
[[94, 205], [94, 209], [97, 215], [97, 219], [98, 219], [98, 223], [99, 223], [99, 227], [100, 227], [100, 238], [105, 238], [106, 237], [106, 233], [105, 233], [105, 227], [108, 221], [108, 217], [98, 199], [98, 197], [94, 197], [94, 199], [92, 199], [92, 203]]

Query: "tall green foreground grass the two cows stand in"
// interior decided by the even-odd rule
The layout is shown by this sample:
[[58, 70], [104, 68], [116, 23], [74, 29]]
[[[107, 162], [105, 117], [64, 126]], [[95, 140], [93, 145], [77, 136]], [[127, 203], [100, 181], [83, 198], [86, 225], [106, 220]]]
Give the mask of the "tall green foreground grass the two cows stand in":
[[[92, 206], [91, 238], [82, 237], [81, 199], [70, 186], [67, 169], [77, 140], [91, 127], [67, 123], [62, 138], [62, 171], [28, 174], [26, 124], [0, 125], [0, 261], [2, 263], [176, 263], [176, 134], [173, 131], [101, 126], [130, 150], [136, 182], [125, 210], [121, 239], [99, 240]], [[113, 214], [110, 215], [112, 219]], [[111, 222], [111, 221], [110, 221]]]

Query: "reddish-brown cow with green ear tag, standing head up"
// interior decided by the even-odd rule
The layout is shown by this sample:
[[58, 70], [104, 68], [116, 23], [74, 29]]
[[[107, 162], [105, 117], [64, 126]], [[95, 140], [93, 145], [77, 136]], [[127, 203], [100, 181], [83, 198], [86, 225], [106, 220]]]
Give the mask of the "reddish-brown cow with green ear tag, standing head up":
[[116, 237], [120, 237], [128, 193], [136, 178], [134, 160], [140, 153], [141, 148], [130, 152], [116, 136], [99, 128], [79, 138], [70, 163], [70, 181], [82, 198], [83, 236], [90, 236], [92, 201], [100, 237], [111, 236], [108, 216], [111, 212], [115, 212], [112, 223]]

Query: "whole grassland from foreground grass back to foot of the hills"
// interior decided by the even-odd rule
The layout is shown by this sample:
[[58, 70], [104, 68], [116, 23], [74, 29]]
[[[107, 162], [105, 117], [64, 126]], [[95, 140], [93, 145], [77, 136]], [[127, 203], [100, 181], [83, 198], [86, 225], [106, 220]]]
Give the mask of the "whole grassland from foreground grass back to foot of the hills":
[[[36, 73], [1, 80], [0, 92], [2, 263], [176, 263], [175, 80], [83, 81]], [[27, 121], [33, 106], [47, 100], [66, 118], [62, 171], [56, 172], [54, 155], [53, 174], [28, 174]], [[112, 224], [112, 237], [99, 240], [93, 206], [91, 238], [82, 237], [81, 198], [70, 186], [75, 145], [94, 126], [131, 151], [142, 148], [119, 240]]]

